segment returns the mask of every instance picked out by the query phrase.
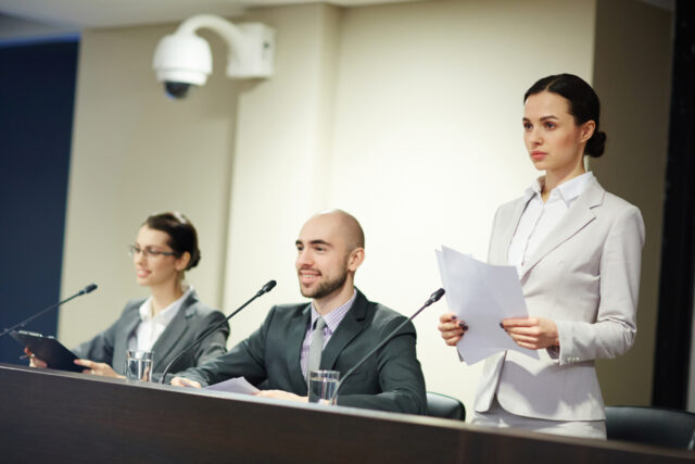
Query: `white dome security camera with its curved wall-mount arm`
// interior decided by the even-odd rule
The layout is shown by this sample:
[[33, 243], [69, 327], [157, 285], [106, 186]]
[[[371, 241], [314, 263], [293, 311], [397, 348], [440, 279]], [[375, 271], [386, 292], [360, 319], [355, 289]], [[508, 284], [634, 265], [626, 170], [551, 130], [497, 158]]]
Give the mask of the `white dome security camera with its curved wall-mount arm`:
[[203, 86], [213, 71], [207, 42], [195, 35], [200, 28], [219, 34], [229, 45], [227, 76], [268, 77], [273, 74], [275, 32], [258, 24], [235, 26], [227, 20], [201, 14], [186, 20], [176, 33], [160, 40], [154, 51], [156, 78], [164, 83], [167, 96], [185, 98], [191, 86]]

